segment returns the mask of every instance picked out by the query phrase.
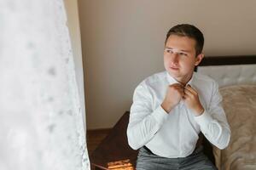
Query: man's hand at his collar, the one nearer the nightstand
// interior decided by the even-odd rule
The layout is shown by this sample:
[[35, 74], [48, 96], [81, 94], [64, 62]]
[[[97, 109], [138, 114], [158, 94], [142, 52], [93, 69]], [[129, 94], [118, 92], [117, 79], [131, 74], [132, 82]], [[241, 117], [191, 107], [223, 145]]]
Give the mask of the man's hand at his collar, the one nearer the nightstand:
[[166, 97], [161, 104], [162, 108], [169, 113], [172, 108], [177, 105], [184, 96], [184, 88], [182, 84], [175, 83], [169, 85], [166, 90]]

